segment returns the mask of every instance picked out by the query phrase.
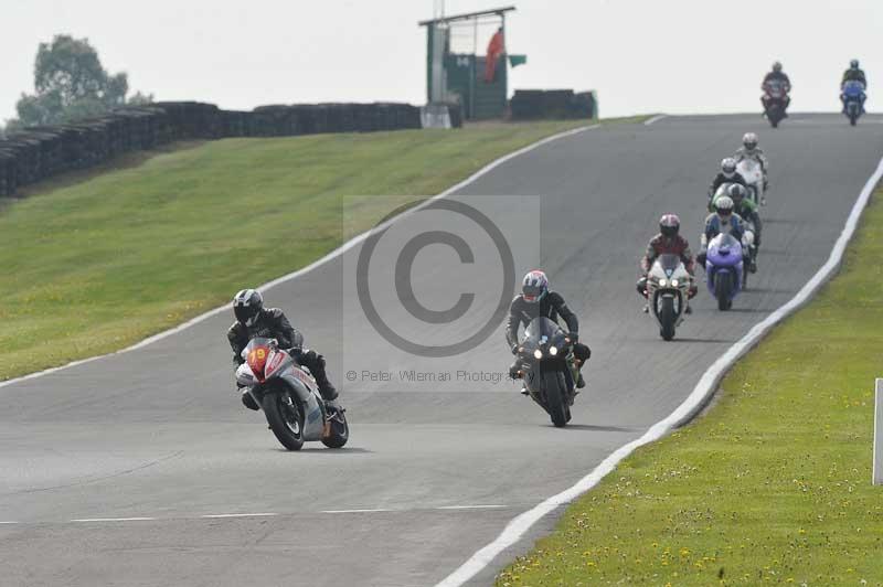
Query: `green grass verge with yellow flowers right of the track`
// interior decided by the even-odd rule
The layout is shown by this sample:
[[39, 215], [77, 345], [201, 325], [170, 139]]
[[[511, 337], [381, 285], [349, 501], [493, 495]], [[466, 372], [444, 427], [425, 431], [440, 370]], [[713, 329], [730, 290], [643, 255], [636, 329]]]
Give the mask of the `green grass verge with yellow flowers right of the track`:
[[497, 585], [883, 585], [881, 258], [883, 190], [840, 275], [736, 364], [716, 405], [624, 460]]

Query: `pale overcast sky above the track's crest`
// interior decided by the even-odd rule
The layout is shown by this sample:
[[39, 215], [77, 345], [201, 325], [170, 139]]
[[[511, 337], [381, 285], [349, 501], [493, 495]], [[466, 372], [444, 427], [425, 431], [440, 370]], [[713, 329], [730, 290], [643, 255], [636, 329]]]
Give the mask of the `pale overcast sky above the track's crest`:
[[[0, 0], [0, 119], [31, 92], [38, 43], [88, 38], [132, 90], [224, 108], [328, 100], [425, 102], [432, 0]], [[603, 116], [758, 109], [778, 58], [796, 110], [838, 108], [851, 57], [874, 109], [883, 0], [448, 0], [448, 14], [515, 4], [513, 88], [596, 89]], [[485, 53], [489, 30], [481, 31]], [[465, 38], [468, 40], [468, 35]]]

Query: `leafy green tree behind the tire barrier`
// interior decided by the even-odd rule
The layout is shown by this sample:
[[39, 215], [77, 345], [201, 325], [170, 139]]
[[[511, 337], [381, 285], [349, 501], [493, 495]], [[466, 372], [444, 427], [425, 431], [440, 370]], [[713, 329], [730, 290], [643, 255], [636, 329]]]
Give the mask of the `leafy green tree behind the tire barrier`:
[[[58, 34], [38, 47], [34, 90], [22, 94], [15, 105], [19, 118], [7, 121], [8, 130], [87, 118], [123, 106], [129, 79], [125, 72], [105, 71], [88, 39]], [[132, 97], [139, 105], [152, 99], [140, 92]]]

